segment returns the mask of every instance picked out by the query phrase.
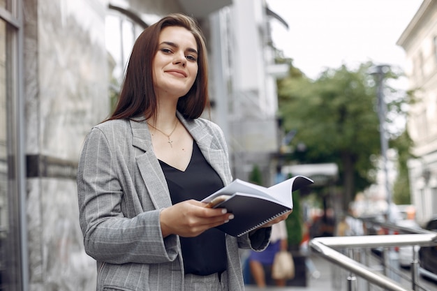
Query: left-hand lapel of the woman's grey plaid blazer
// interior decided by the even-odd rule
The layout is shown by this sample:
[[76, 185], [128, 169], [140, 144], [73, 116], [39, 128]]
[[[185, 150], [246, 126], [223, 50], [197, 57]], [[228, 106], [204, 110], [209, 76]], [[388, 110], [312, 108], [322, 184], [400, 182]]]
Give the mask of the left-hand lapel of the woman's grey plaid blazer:
[[[159, 161], [154, 154], [147, 122], [135, 119], [130, 122], [133, 134], [132, 145], [144, 151], [144, 154], [139, 154], [135, 159], [150, 199], [156, 209], [170, 207], [172, 205], [170, 191], [161, 165], [159, 165]], [[144, 195], [144, 193], [138, 194]]]

